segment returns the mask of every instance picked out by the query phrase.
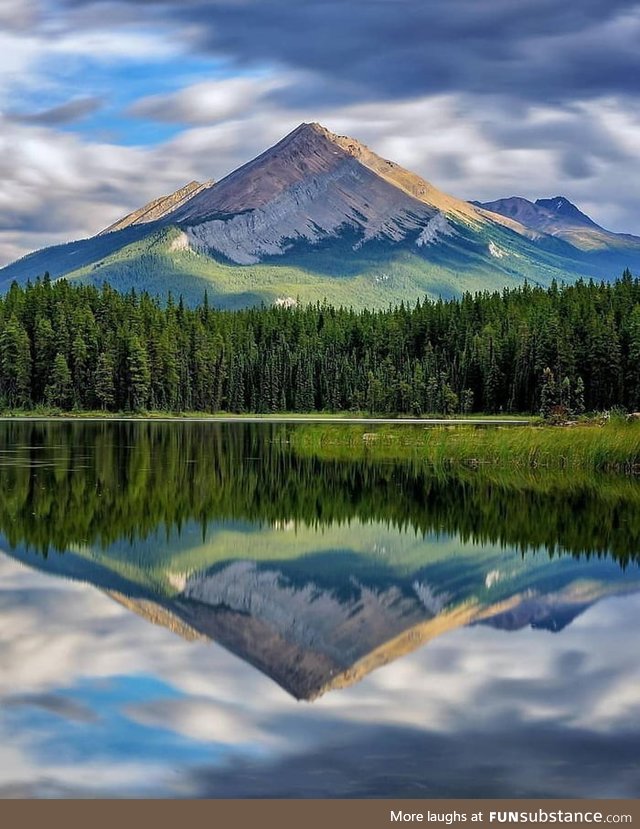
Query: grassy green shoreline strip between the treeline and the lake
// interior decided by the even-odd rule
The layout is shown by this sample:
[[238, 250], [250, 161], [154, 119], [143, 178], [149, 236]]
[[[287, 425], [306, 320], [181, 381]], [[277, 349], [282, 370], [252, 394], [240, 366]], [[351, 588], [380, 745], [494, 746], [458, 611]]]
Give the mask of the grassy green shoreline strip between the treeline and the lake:
[[0, 414], [0, 422], [19, 421], [299, 424], [284, 439], [296, 453], [324, 460], [413, 460], [443, 469], [584, 469], [640, 475], [640, 422], [629, 423], [622, 417], [606, 423], [585, 420], [554, 426], [537, 417], [518, 415], [412, 419], [353, 412], [232, 415], [39, 410]]

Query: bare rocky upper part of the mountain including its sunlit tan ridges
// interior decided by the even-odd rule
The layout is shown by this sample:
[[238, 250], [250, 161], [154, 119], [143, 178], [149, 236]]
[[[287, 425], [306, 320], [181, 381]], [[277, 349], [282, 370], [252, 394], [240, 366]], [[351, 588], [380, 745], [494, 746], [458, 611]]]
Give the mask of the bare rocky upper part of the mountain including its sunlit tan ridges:
[[454, 236], [460, 223], [523, 230], [512, 218], [442, 193], [359, 141], [316, 123], [300, 124], [212, 184], [190, 182], [103, 232], [161, 221], [179, 226], [193, 250], [250, 265], [297, 243], [314, 245], [344, 232], [355, 236], [357, 250], [372, 239], [435, 246]]

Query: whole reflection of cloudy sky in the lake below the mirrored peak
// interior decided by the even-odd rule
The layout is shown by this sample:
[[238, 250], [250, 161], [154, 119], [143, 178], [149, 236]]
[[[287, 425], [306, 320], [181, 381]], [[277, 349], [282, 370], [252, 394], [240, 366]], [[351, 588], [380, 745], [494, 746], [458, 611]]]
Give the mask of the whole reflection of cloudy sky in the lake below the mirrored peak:
[[308, 705], [0, 558], [0, 793], [637, 795], [639, 613], [631, 596], [560, 635], [454, 631]]

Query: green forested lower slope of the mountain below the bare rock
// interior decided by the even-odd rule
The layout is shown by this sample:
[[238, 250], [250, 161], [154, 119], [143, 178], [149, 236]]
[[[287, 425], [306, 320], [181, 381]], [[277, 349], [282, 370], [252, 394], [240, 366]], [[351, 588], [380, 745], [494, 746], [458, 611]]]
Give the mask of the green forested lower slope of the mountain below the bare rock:
[[64, 275], [83, 284], [108, 282], [122, 291], [135, 288], [160, 296], [172, 291], [182, 294], [189, 304], [201, 301], [206, 290], [213, 304], [225, 308], [285, 298], [303, 304], [327, 299], [334, 305], [384, 308], [425, 295], [448, 298], [465, 291], [513, 287], [524, 279], [549, 285], [553, 279], [570, 281], [597, 273], [579, 261], [532, 251], [531, 243], [497, 228], [492, 229], [487, 244], [510, 255], [495, 264], [486, 261], [477, 240], [457, 249], [443, 245], [428, 255], [410, 245], [369, 243], [357, 257], [349, 256], [353, 242], [345, 233], [313, 248], [300, 245], [286, 257], [237, 265], [221, 256], [180, 247], [181, 236], [175, 227], [158, 229]]

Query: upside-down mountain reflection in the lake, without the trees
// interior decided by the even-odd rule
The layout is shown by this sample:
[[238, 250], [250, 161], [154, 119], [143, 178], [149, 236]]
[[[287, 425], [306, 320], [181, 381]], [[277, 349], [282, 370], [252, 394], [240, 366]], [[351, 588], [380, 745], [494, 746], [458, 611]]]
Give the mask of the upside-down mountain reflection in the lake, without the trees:
[[[640, 589], [635, 565], [624, 575], [612, 561], [523, 556], [457, 539], [416, 541], [382, 525], [359, 525], [351, 535], [382, 534], [384, 563], [355, 549], [337, 553], [308, 528], [291, 559], [278, 556], [282, 529], [269, 532], [274, 543], [261, 560], [227, 557], [219, 546], [223, 528], [212, 529], [212, 543], [198, 551], [205, 557], [187, 569], [196, 551], [184, 540], [172, 561], [153, 553], [143, 561], [130, 548], [123, 559], [122, 544], [42, 558], [0, 536], [0, 549], [52, 576], [93, 585], [187, 641], [215, 641], [305, 700], [353, 685], [457, 628], [559, 632], [596, 602]], [[340, 534], [344, 539], [344, 528]], [[237, 528], [235, 535], [241, 550]], [[417, 555], [407, 569], [409, 549]]]

